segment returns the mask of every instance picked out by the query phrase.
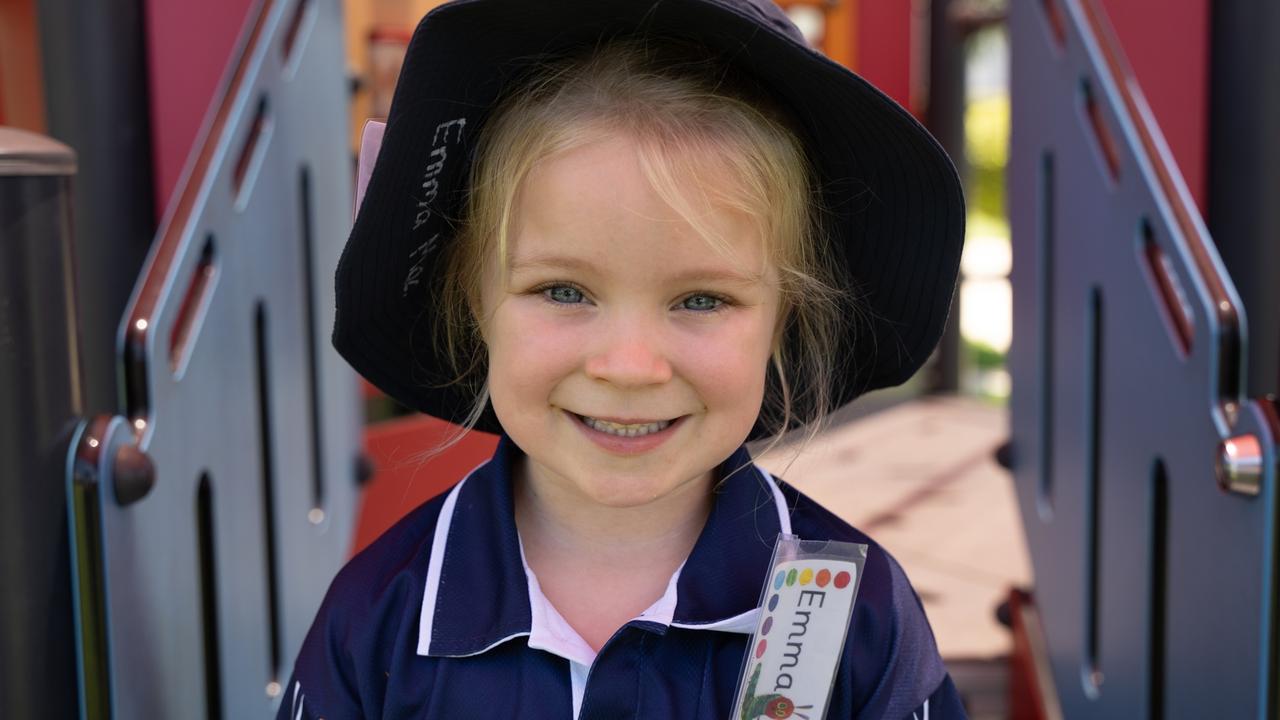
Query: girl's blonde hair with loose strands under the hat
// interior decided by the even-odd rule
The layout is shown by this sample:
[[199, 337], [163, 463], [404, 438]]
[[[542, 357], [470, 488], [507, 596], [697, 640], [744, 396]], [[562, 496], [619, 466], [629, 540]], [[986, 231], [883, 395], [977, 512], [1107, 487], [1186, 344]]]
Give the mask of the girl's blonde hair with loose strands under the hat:
[[[804, 146], [776, 104], [728, 77], [705, 51], [643, 38], [539, 64], [532, 79], [507, 95], [481, 129], [466, 206], [445, 259], [439, 291], [444, 311], [434, 333], [453, 363], [454, 382], [475, 392], [465, 429], [488, 402], [480, 332], [485, 260], [497, 254], [506, 273], [513, 206], [525, 177], [548, 156], [620, 132], [636, 141], [641, 168], [659, 197], [716, 251], [728, 254], [728, 243], [699, 220], [698, 208], [723, 204], [756, 223], [781, 290], [760, 419], [772, 430], [769, 447], [801, 423], [812, 437], [833, 410], [832, 365], [852, 306], [837, 290], [824, 250], [819, 191]], [[696, 182], [708, 159], [739, 182]], [[703, 197], [690, 200], [690, 191]]]

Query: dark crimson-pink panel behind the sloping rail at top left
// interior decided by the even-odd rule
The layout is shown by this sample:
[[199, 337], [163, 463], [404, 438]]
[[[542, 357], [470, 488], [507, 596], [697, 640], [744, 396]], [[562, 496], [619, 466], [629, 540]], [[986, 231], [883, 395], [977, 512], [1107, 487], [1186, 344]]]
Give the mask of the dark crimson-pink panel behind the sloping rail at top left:
[[146, 0], [151, 163], [164, 214], [253, 0]]

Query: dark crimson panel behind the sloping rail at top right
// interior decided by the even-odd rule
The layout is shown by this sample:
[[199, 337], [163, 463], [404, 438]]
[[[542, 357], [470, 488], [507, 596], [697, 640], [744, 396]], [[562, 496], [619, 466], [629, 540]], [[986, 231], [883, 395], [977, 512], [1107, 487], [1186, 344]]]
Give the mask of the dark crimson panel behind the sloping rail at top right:
[[1101, 0], [1196, 204], [1208, 161], [1208, 0]]

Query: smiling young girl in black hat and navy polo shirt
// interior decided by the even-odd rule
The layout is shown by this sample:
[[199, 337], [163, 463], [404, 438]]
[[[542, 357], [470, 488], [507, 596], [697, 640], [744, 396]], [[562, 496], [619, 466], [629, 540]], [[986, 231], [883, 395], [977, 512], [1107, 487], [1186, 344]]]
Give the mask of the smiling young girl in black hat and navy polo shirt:
[[769, 0], [433, 12], [334, 343], [502, 439], [334, 579], [280, 717], [730, 717], [780, 533], [870, 543], [827, 717], [961, 717], [901, 568], [744, 442], [918, 369], [963, 215]]

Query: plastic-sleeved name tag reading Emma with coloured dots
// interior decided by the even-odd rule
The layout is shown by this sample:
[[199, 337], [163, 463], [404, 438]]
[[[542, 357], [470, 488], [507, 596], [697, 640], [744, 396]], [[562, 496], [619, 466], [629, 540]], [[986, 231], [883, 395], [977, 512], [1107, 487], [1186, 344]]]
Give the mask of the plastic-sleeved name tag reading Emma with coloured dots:
[[867, 546], [780, 534], [732, 720], [826, 717]]

